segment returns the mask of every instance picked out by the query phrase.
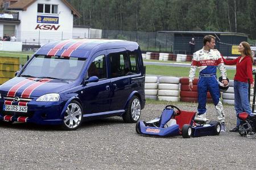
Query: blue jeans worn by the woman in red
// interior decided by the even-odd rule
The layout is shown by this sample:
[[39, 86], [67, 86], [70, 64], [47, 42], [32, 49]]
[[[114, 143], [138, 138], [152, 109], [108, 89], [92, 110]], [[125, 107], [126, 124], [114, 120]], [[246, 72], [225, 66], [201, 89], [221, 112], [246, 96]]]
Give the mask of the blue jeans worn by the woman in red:
[[[249, 84], [245, 82], [239, 82], [234, 80], [234, 107], [236, 113], [246, 112], [252, 114], [251, 107], [248, 99], [248, 87]], [[237, 126], [239, 126], [240, 120], [237, 118]]]

